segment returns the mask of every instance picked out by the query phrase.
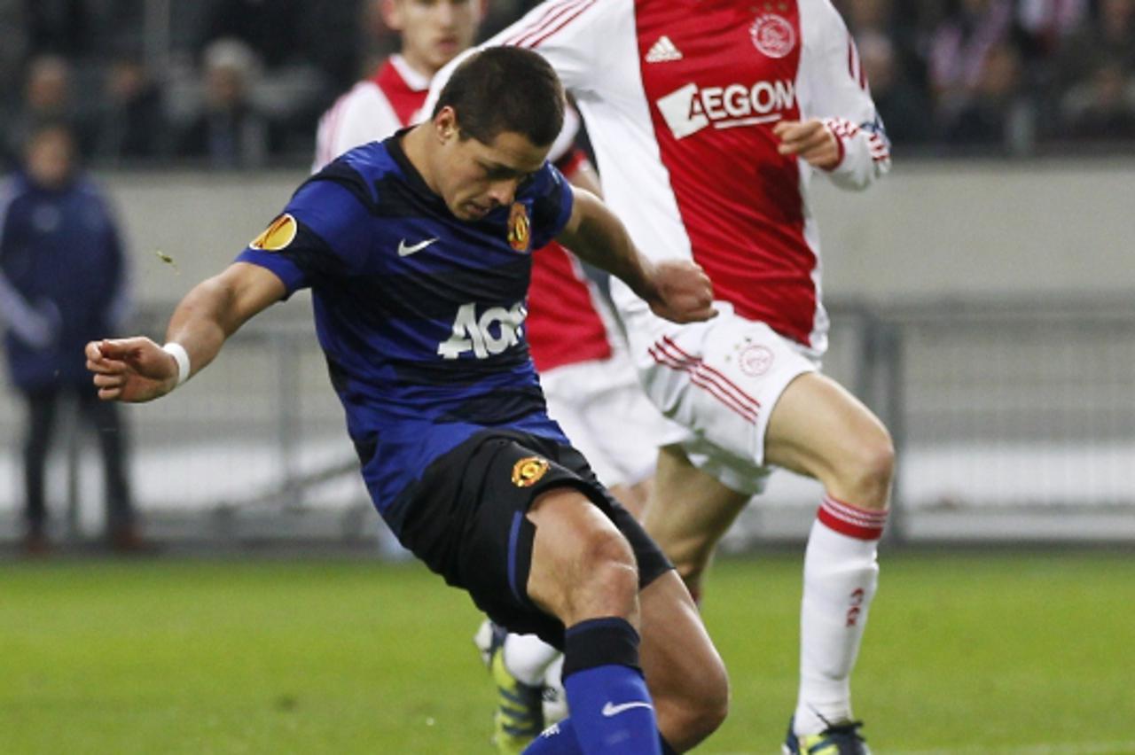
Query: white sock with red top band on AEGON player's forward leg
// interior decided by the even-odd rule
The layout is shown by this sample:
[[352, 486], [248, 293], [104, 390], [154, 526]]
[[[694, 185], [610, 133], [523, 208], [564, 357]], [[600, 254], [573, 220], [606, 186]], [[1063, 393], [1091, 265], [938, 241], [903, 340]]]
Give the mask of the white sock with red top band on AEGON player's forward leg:
[[885, 511], [824, 499], [804, 555], [797, 735], [851, 720], [851, 669], [878, 586], [876, 545]]

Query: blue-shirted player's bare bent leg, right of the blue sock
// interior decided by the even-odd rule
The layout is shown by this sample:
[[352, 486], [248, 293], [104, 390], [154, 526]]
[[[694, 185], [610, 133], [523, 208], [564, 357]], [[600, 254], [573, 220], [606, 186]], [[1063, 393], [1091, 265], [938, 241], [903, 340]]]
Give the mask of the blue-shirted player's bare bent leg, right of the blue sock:
[[[708, 733], [729, 706], [729, 677], [689, 592], [671, 571], [642, 591], [640, 606], [639, 659], [663, 733], [689, 731], [691, 721]], [[670, 744], [687, 749], [697, 741]]]

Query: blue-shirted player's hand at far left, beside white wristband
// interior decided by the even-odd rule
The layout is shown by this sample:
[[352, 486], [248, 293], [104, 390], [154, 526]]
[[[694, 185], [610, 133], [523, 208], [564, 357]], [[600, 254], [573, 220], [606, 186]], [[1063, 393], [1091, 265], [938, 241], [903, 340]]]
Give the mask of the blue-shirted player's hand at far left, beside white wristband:
[[85, 350], [103, 401], [152, 401], [177, 387], [177, 360], [149, 338], [91, 341]]

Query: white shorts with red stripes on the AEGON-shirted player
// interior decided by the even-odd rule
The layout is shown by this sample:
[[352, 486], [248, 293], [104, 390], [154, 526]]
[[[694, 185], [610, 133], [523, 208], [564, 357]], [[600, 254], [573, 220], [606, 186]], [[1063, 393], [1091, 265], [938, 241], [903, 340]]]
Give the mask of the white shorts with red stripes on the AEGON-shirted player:
[[707, 322], [678, 325], [646, 307], [624, 311], [631, 357], [647, 396], [679, 429], [662, 444], [681, 446], [697, 468], [741, 493], [764, 490], [768, 416], [818, 356], [725, 302]]

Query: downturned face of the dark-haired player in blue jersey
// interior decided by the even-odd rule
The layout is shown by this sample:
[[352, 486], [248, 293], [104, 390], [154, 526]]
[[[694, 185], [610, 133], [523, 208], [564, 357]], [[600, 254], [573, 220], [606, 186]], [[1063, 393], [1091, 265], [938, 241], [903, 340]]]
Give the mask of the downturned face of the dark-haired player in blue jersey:
[[449, 113], [446, 108], [434, 124], [440, 138], [435, 187], [459, 220], [480, 220], [512, 204], [518, 187], [544, 166], [549, 146], [514, 132], [498, 134], [491, 144], [462, 138]]

